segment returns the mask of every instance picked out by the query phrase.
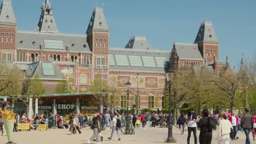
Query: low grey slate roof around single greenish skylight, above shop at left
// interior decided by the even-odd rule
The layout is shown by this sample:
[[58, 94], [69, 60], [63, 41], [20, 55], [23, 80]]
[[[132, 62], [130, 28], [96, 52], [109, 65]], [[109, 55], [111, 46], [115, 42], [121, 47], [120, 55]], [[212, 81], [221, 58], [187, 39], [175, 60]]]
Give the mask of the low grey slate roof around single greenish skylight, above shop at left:
[[53, 62], [36, 62], [32, 64], [28, 64], [28, 68], [25, 71], [26, 76], [31, 76], [34, 78], [36, 75], [39, 76], [41, 80], [63, 80], [65, 77], [61, 73], [61, 70], [57, 68], [55, 64], [53, 64], [54, 75], [44, 75], [44, 70], [42, 63], [53, 63]]

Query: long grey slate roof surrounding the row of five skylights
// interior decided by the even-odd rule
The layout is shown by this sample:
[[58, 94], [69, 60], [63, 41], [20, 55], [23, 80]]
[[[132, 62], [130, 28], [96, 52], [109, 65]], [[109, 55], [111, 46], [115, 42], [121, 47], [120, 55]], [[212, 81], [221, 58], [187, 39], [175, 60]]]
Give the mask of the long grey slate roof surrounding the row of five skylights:
[[[109, 55], [113, 55], [114, 63], [113, 65], [109, 65], [109, 70], [122, 70], [122, 71], [148, 71], [148, 72], [159, 72], [164, 73], [168, 68], [169, 58], [170, 58], [170, 52], [169, 51], [161, 51], [161, 50], [148, 50], [148, 51], [142, 51], [142, 50], [133, 50], [133, 49], [114, 49], [110, 48]], [[118, 65], [117, 59], [115, 55], [125, 55], [127, 56], [128, 65]], [[142, 66], [131, 66], [131, 59], [129, 56], [138, 56], [139, 61], [142, 62]], [[143, 56], [151, 56], [153, 57], [152, 63], [154, 65], [149, 65], [150, 67], [145, 66], [145, 61], [143, 61]], [[164, 67], [161, 67], [156, 58], [164, 58], [165, 62], [163, 62]], [[109, 58], [110, 59], [110, 58]], [[125, 60], [125, 59], [123, 59]], [[146, 59], [144, 59], [146, 60]]]

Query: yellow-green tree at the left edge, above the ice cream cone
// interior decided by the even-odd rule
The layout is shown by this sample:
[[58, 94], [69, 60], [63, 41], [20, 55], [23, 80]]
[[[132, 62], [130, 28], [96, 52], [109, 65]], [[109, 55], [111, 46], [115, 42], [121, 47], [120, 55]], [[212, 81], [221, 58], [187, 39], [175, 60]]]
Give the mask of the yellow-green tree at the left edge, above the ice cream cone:
[[0, 77], [0, 94], [11, 97], [14, 107], [13, 97], [21, 94], [24, 75], [15, 64], [0, 62]]

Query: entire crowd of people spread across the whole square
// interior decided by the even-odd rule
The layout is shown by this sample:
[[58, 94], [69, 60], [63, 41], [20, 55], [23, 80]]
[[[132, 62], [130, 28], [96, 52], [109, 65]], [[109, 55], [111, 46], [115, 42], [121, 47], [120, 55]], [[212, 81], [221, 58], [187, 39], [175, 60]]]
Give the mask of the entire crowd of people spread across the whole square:
[[[194, 143], [197, 144], [197, 130], [200, 130], [199, 142], [203, 144], [210, 144], [212, 141], [212, 130], [218, 131], [218, 141], [219, 144], [227, 144], [231, 140], [237, 140], [237, 131], [244, 131], [246, 135], [246, 144], [250, 144], [249, 133], [253, 133], [253, 140], [255, 141], [256, 135], [256, 114], [253, 116], [249, 113], [249, 109], [245, 109], [243, 115], [236, 115], [236, 111], [231, 113], [219, 113], [218, 115], [210, 115], [208, 110], [203, 110], [200, 116], [197, 116], [194, 109], [190, 109], [190, 112], [185, 115], [181, 114], [177, 118], [177, 127], [181, 130], [181, 135], [184, 131], [188, 131], [187, 143], [190, 143], [191, 133], [194, 135]], [[131, 123], [133, 128], [143, 128], [148, 130], [150, 127], [168, 127], [169, 116], [164, 113], [139, 113], [136, 115], [129, 114], [129, 123]], [[64, 120], [63, 120], [64, 119]], [[173, 120], [173, 119], [172, 119]], [[71, 134], [82, 133], [81, 129], [85, 129], [86, 125], [90, 126], [94, 132], [88, 143], [91, 141], [96, 141], [97, 144], [103, 141], [103, 136], [101, 134], [102, 129], [112, 129], [111, 135], [108, 137], [112, 140], [114, 132], [117, 132], [118, 140], [121, 140], [120, 130], [126, 125], [126, 114], [106, 112], [104, 115], [95, 111], [95, 113], [90, 115], [85, 115], [82, 113], [70, 113], [66, 118], [62, 118], [59, 114], [53, 115], [50, 113], [48, 116], [33, 116], [32, 119], [28, 119], [26, 113], [21, 117], [16, 115], [14, 123], [14, 131], [17, 130], [18, 123], [30, 123], [31, 129], [36, 130], [38, 124], [47, 124], [48, 129], [59, 128], [63, 129], [69, 128]], [[0, 125], [2, 124], [2, 119], [0, 118]], [[214, 127], [215, 125], [215, 127]], [[2, 130], [3, 131], [3, 130]], [[3, 133], [2, 133], [3, 134]]]

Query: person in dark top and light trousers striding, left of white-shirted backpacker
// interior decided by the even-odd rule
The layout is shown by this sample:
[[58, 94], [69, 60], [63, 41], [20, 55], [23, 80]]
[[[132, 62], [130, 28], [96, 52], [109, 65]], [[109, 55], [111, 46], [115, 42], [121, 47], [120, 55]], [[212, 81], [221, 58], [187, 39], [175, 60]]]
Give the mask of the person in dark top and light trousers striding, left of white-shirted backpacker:
[[94, 115], [92, 115], [92, 125], [91, 125], [91, 129], [93, 129], [94, 130], [94, 134], [91, 136], [91, 138], [89, 139], [89, 140], [87, 140], [87, 142], [88, 142], [88, 144], [90, 144], [91, 143], [91, 141], [93, 141], [93, 140], [95, 140], [96, 139], [96, 141], [97, 141], [97, 143], [96, 144], [100, 144], [101, 142], [101, 137], [100, 137], [100, 135], [98, 134], [99, 133], [99, 127], [98, 127], [98, 118], [100, 117], [100, 115], [96, 115], [96, 114], [94, 114]]

